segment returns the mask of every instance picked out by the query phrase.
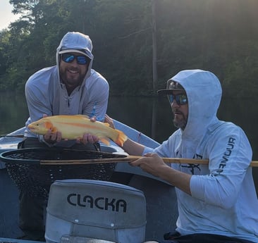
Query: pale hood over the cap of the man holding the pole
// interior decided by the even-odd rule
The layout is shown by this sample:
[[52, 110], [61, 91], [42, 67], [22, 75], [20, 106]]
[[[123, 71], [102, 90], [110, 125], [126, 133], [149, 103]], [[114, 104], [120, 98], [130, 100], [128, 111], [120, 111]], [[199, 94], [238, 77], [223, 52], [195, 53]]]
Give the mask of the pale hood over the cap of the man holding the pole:
[[175, 88], [171, 82], [177, 82], [188, 96], [188, 123], [182, 135], [196, 140], [204, 135], [208, 125], [218, 121], [216, 113], [222, 96], [219, 79], [209, 71], [183, 70], [168, 80], [165, 93]]

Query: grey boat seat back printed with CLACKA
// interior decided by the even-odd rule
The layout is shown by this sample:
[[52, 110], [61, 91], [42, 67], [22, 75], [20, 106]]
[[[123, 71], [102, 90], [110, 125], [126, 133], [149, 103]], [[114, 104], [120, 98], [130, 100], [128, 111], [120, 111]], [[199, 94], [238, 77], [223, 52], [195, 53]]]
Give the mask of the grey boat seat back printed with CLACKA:
[[47, 243], [145, 241], [142, 191], [100, 180], [56, 180], [47, 205]]

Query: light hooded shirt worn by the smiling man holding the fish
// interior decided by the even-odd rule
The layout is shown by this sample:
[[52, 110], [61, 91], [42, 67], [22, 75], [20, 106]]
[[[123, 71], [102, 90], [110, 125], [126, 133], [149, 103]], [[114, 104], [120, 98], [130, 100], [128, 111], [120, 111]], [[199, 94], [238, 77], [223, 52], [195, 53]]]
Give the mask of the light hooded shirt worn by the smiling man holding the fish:
[[[82, 84], [68, 95], [66, 85], [60, 80], [60, 51], [80, 50], [91, 59]], [[70, 51], [73, 52], [73, 51]], [[92, 69], [92, 41], [80, 32], [68, 32], [56, 49], [56, 66], [44, 68], [32, 75], [25, 85], [25, 96], [30, 117], [28, 124], [47, 116], [83, 114], [96, 116], [103, 121], [109, 99], [109, 84]], [[37, 137], [26, 128], [25, 137]], [[43, 137], [39, 136], [42, 140]]]

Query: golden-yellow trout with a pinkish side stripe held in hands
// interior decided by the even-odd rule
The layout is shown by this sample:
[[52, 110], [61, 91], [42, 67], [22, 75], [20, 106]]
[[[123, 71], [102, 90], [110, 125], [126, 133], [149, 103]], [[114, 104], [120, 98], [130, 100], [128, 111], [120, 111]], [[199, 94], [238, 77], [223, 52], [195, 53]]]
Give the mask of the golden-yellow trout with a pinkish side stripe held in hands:
[[63, 139], [82, 139], [82, 135], [90, 133], [99, 137], [100, 141], [105, 144], [109, 144], [109, 138], [121, 147], [128, 139], [122, 131], [109, 127], [109, 123], [99, 121], [93, 123], [84, 115], [47, 116], [30, 123], [27, 128], [38, 135], [45, 135], [49, 129], [53, 133], [61, 132]]

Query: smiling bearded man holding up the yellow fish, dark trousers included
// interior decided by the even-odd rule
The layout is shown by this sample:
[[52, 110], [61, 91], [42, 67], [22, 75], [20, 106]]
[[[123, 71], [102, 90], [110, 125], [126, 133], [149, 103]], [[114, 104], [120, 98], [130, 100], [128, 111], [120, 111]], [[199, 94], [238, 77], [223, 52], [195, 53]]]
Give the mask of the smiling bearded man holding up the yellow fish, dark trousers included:
[[[43, 68], [26, 82], [25, 96], [30, 117], [26, 126], [42, 116], [86, 115], [103, 121], [109, 99], [109, 83], [92, 69], [92, 41], [80, 32], [68, 32], [56, 49], [56, 66]], [[69, 147], [98, 149], [97, 139], [85, 134], [81, 143], [64, 141], [60, 132], [35, 135], [25, 130], [19, 148]], [[102, 168], [103, 169], [103, 168]], [[104, 170], [103, 170], [104, 171]], [[23, 239], [44, 241], [45, 197], [32, 197], [20, 191], [20, 228]]]

